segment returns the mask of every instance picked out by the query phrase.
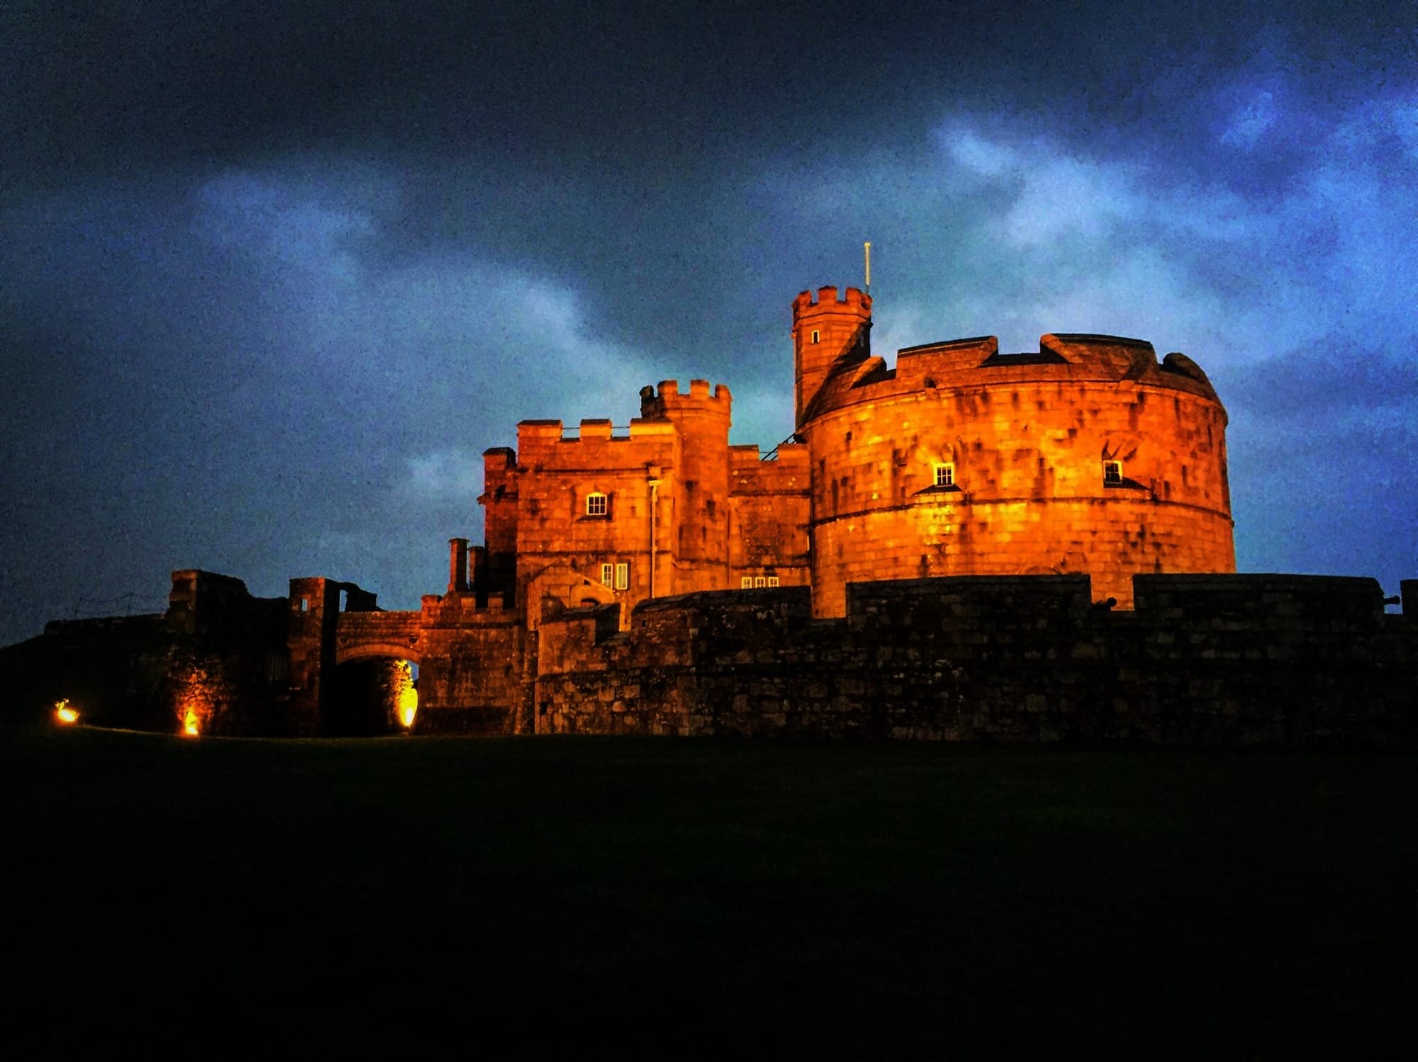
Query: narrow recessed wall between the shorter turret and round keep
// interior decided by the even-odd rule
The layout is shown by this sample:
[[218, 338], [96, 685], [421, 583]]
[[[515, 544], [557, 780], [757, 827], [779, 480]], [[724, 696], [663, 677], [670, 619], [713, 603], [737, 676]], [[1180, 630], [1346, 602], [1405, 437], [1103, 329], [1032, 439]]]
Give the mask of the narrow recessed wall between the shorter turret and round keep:
[[[771, 460], [757, 446], [729, 447], [729, 588], [776, 578], [807, 586], [808, 447], [783, 443]], [[760, 583], [764, 585], [764, 583]]]

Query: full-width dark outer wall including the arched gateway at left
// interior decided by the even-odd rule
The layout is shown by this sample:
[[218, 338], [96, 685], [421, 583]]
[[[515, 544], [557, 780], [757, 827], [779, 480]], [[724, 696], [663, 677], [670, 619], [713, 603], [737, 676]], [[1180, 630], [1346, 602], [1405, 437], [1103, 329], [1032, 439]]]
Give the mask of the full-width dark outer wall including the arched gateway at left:
[[[340, 605], [345, 609], [340, 610]], [[1139, 575], [1134, 609], [1088, 576], [699, 592], [543, 619], [471, 593], [383, 612], [350, 583], [173, 573], [166, 616], [51, 623], [0, 650], [10, 711], [74, 698], [99, 725], [203, 733], [380, 732], [349, 677], [420, 663], [418, 733], [913, 738], [1418, 748], [1418, 581]], [[369, 681], [379, 675], [363, 674]], [[343, 690], [343, 692], [342, 692]]]

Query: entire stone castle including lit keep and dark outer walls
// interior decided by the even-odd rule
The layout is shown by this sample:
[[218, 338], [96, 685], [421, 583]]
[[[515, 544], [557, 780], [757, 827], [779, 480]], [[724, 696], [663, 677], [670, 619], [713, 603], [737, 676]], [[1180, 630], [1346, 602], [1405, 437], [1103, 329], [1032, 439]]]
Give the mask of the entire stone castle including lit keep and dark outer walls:
[[[795, 428], [769, 453], [729, 445], [702, 379], [644, 388], [624, 429], [520, 422], [484, 455], [484, 545], [451, 539], [417, 612], [186, 569], [162, 617], [14, 649], [67, 661], [45, 695], [191, 732], [381, 732], [414, 661], [415, 732], [1414, 743], [1418, 582], [1388, 615], [1373, 579], [1235, 575], [1194, 361], [1046, 334], [888, 368], [871, 310], [793, 302]], [[78, 660], [109, 678], [78, 688]]]

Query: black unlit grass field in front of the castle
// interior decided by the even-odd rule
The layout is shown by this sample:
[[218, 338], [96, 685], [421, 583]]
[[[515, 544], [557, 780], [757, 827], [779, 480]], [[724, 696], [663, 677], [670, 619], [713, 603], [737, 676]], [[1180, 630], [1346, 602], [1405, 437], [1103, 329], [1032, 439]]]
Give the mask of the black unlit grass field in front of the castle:
[[55, 1046], [1374, 1058], [1418, 760], [0, 729]]

